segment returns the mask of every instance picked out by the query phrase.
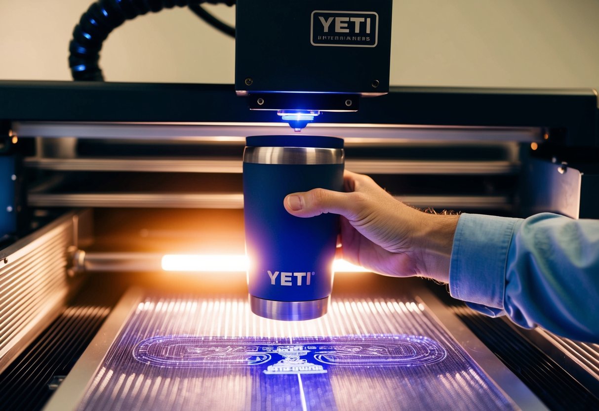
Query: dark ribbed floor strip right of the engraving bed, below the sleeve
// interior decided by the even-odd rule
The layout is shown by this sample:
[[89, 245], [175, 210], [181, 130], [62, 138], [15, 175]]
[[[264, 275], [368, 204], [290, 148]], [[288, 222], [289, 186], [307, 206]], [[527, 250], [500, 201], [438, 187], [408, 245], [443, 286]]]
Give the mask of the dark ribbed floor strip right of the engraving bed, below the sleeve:
[[[596, 392], [589, 391], [560, 364], [553, 361], [546, 352], [541, 351], [513, 330], [506, 321], [489, 318], [465, 306], [451, 308], [464, 324], [550, 409], [564, 411], [599, 409], [599, 398], [596, 397]], [[562, 339], [558, 340], [568, 344]], [[572, 350], [574, 350], [572, 346], [576, 346], [579, 355], [585, 358], [593, 356], [588, 352], [589, 348], [596, 349], [596, 347], [584, 347], [585, 344], [580, 343], [570, 342], [569, 345]], [[585, 351], [583, 347], [587, 350]]]

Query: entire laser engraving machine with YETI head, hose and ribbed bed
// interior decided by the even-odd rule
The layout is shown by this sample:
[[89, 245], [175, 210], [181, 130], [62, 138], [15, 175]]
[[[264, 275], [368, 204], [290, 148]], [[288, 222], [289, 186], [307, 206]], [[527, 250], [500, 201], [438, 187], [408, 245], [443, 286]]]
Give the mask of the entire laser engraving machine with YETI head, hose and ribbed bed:
[[347, 170], [423, 209], [599, 217], [597, 93], [389, 86], [391, 3], [239, 0], [235, 84], [147, 84], [102, 81], [126, 20], [233, 29], [101, 0], [78, 81], [0, 81], [0, 408], [599, 407], [597, 344], [426, 280], [335, 261], [326, 315], [252, 313], [247, 136], [343, 138]]

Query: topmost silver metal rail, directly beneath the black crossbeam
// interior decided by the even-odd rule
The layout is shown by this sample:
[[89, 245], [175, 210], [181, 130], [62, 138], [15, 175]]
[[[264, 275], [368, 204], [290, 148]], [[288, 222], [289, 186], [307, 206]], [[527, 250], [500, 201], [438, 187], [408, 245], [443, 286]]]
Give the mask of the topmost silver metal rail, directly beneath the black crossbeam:
[[[94, 123], [14, 122], [20, 137], [132, 138], [143, 140], [188, 140], [243, 143], [248, 135], [293, 134], [285, 123]], [[346, 140], [382, 139], [436, 141], [541, 141], [535, 127], [460, 127], [389, 124], [313, 123], [301, 135], [342, 135]]]

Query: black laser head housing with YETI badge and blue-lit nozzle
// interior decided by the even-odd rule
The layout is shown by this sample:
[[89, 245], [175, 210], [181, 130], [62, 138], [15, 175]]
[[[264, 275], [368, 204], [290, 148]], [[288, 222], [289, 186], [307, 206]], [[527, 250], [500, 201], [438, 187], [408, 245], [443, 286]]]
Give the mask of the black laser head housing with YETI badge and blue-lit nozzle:
[[389, 92], [392, 0], [237, 0], [235, 90], [299, 130]]

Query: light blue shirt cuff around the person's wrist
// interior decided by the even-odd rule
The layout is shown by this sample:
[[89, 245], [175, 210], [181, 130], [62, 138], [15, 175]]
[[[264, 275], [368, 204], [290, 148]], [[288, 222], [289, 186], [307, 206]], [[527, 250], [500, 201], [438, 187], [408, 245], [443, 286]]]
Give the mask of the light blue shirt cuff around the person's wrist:
[[449, 268], [452, 297], [503, 310], [507, 255], [521, 219], [462, 214]]

